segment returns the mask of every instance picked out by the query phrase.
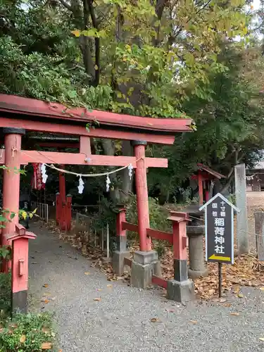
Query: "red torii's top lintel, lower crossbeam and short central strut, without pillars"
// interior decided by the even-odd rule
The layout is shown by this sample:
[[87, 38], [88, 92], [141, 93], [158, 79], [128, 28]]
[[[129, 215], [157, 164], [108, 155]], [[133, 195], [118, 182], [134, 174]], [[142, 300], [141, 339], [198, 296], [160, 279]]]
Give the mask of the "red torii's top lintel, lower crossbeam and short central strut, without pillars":
[[[88, 130], [87, 123], [93, 122], [96, 122], [94, 128]], [[89, 112], [84, 108], [66, 108], [59, 103], [0, 94], [0, 127], [80, 137], [80, 153], [75, 153], [74, 158], [73, 153], [21, 151], [20, 163], [23, 165], [57, 163], [124, 166], [132, 163], [137, 168], [134, 157], [92, 155], [89, 137], [173, 144], [176, 132], [191, 131], [191, 124], [191, 119], [142, 118], [97, 110]], [[1, 164], [5, 163], [4, 155], [5, 151], [2, 151]], [[90, 156], [88, 163], [85, 156]], [[146, 158], [146, 167], [166, 168], [168, 161], [162, 158]]]

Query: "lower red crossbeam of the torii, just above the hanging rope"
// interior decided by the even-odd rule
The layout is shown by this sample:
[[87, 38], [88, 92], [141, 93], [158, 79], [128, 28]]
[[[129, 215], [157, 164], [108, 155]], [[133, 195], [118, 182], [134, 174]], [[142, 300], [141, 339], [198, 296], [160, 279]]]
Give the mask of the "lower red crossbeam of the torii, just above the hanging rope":
[[[130, 163], [137, 168], [134, 156], [85, 155], [81, 153], [61, 153], [58, 151], [19, 151], [20, 164], [46, 163], [70, 165], [125, 166]], [[0, 151], [0, 165], [5, 163], [5, 151]], [[88, 158], [88, 161], [85, 159]], [[168, 168], [168, 160], [162, 158], [146, 158], [147, 168]]]

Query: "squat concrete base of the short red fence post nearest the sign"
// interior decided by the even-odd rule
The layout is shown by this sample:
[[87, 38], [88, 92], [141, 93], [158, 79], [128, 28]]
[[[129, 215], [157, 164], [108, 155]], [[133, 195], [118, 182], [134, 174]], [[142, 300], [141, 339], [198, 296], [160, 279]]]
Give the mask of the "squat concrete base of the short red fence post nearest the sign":
[[194, 282], [189, 279], [182, 282], [169, 280], [167, 298], [180, 303], [192, 301], [194, 299]]

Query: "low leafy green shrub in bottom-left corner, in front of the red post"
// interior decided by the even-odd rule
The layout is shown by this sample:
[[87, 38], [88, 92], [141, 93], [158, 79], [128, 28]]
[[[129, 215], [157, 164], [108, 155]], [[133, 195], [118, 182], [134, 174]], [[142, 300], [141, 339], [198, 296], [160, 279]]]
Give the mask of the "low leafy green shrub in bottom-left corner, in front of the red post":
[[37, 352], [54, 349], [55, 334], [50, 314], [17, 314], [0, 327], [0, 351]]

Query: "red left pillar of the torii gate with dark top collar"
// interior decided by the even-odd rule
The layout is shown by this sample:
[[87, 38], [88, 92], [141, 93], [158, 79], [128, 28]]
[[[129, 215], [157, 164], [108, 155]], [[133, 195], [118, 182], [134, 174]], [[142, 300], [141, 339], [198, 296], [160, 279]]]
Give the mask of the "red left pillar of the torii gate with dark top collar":
[[[4, 145], [5, 145], [5, 165], [8, 170], [4, 170], [3, 180], [3, 209], [15, 213], [15, 217], [11, 222], [5, 222], [5, 227], [2, 231], [1, 245], [6, 246], [8, 241], [6, 234], [15, 233], [15, 224], [18, 223], [18, 210], [19, 210], [19, 191], [20, 191], [20, 149], [22, 134], [25, 130], [21, 128], [6, 127], [4, 132]], [[10, 214], [6, 213], [8, 218]], [[11, 268], [11, 262], [2, 263], [2, 270], [8, 272]]]

